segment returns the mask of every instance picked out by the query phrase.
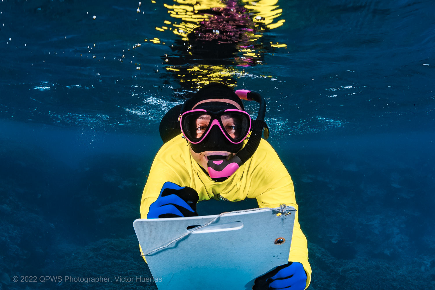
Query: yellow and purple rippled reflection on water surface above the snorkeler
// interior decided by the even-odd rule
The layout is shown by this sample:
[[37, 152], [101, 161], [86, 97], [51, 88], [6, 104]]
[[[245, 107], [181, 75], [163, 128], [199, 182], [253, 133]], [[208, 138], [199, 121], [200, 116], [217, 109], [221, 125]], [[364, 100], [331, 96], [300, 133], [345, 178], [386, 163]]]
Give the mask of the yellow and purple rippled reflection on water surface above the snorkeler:
[[[261, 41], [265, 32], [285, 22], [278, 0], [173, 0], [163, 5], [169, 18], [155, 30], [172, 31], [178, 40], [171, 46], [174, 54], [162, 57], [162, 63], [182, 87], [216, 81], [235, 86], [243, 67], [264, 64], [268, 49], [287, 47]], [[157, 37], [149, 41], [161, 43]], [[194, 62], [201, 64], [187, 64]]]

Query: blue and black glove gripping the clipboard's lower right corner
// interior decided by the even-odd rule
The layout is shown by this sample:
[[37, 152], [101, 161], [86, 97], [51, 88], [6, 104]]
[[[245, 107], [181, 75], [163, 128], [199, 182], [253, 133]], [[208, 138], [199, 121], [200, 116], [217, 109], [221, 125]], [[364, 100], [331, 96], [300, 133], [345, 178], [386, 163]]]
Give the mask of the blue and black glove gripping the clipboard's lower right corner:
[[252, 290], [304, 290], [306, 280], [304, 266], [299, 262], [288, 262], [255, 279]]

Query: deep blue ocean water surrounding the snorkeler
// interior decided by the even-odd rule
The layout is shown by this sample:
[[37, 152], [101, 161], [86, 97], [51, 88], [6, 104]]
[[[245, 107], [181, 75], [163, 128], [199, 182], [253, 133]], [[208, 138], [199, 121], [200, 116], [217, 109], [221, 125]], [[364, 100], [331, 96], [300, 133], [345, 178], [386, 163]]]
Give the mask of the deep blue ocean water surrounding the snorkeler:
[[239, 1], [251, 30], [204, 47], [180, 3], [0, 2], [0, 289], [157, 289], [131, 223], [161, 117], [210, 81], [267, 98], [310, 289], [435, 289], [435, 3]]

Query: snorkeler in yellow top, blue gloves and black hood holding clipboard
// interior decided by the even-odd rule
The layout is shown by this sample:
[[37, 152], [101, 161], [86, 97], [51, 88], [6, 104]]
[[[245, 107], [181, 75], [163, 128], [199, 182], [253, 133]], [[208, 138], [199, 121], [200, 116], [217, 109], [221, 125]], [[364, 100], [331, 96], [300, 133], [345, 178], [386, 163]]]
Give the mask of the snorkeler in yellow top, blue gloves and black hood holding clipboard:
[[[141, 218], [197, 216], [197, 202], [211, 198], [255, 198], [259, 207], [285, 203], [298, 209], [290, 175], [274, 149], [261, 139], [263, 128], [268, 134], [264, 99], [247, 90], [236, 93], [224, 84], [211, 83], [165, 115], [162, 123], [179, 127], [160, 128], [166, 143], [151, 166]], [[241, 98], [260, 103], [256, 120], [244, 110]], [[291, 241], [289, 262], [258, 277], [254, 290], [308, 287], [311, 267], [298, 212]]]

